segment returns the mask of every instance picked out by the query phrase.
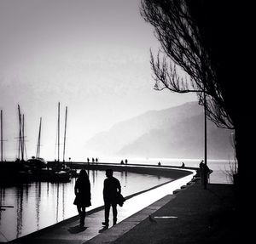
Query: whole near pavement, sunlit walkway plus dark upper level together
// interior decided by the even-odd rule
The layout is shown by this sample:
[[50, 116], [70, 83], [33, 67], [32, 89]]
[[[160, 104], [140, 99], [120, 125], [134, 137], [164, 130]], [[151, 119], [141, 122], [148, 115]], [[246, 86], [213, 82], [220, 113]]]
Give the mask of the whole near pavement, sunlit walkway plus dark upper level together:
[[[188, 182], [189, 176], [185, 178]], [[100, 210], [86, 218], [86, 230], [79, 230], [77, 217], [70, 218], [15, 243], [216, 244], [237, 241], [240, 229], [233, 185], [208, 184], [204, 189], [200, 180], [183, 184], [185, 178], [125, 201], [124, 207], [119, 207], [119, 223], [108, 230], [102, 230], [103, 211]], [[174, 190], [178, 185], [179, 189]], [[148, 201], [161, 191], [162, 195], [156, 197], [160, 197], [158, 200]], [[147, 202], [143, 203], [145, 199]]]

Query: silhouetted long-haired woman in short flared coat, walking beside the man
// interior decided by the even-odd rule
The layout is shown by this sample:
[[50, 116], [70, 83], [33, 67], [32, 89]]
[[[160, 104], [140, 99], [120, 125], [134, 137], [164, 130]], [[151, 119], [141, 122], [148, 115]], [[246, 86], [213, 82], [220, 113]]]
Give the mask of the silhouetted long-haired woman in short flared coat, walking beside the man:
[[80, 216], [80, 227], [84, 227], [85, 220], [85, 208], [90, 207], [90, 180], [88, 174], [84, 169], [79, 173], [74, 187], [75, 200], [74, 205], [77, 205], [79, 216]]

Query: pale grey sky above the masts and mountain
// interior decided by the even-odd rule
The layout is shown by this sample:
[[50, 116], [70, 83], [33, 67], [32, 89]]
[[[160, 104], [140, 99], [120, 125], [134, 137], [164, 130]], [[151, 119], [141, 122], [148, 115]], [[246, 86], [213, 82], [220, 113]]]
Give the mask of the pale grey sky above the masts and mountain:
[[40, 117], [41, 156], [57, 157], [60, 102], [61, 150], [67, 106], [66, 160], [83, 161], [86, 141], [114, 123], [196, 99], [154, 90], [149, 50], [160, 43], [139, 8], [140, 0], [0, 0], [4, 159], [18, 153], [18, 105], [28, 158]]

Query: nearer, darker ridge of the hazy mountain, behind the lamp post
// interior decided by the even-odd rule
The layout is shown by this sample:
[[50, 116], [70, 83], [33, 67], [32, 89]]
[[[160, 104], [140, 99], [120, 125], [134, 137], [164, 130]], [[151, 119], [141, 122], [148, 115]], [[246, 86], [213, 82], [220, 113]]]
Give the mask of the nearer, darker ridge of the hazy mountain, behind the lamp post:
[[[203, 115], [192, 116], [171, 128], [154, 129], [119, 151], [120, 155], [174, 158], [204, 157]], [[230, 130], [207, 122], [207, 154], [212, 159], [233, 159]]]

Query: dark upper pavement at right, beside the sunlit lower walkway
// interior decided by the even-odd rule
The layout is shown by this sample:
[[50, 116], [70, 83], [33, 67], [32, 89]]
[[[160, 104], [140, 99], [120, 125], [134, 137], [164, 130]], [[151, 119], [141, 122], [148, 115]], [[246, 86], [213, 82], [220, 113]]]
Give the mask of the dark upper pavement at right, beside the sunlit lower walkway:
[[232, 184], [208, 184], [206, 190], [197, 181], [187, 189], [179, 191], [172, 201], [155, 211], [152, 218], [145, 218], [124, 235], [108, 242], [108, 235], [111, 236], [110, 232], [114, 231], [108, 230], [109, 233], [104, 233], [105, 236], [98, 235], [89, 243], [247, 242], [248, 235], [241, 235], [241, 226], [247, 226], [248, 223], [240, 222], [235, 202]]

